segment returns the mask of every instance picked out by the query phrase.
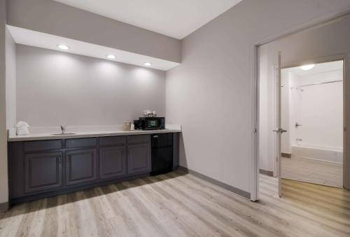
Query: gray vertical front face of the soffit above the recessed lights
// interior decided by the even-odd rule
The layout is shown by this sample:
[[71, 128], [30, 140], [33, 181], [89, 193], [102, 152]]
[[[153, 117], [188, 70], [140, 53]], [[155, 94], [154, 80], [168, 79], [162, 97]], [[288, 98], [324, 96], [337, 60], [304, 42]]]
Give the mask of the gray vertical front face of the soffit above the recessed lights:
[[7, 23], [15, 27], [181, 62], [181, 41], [48, 0], [8, 0]]

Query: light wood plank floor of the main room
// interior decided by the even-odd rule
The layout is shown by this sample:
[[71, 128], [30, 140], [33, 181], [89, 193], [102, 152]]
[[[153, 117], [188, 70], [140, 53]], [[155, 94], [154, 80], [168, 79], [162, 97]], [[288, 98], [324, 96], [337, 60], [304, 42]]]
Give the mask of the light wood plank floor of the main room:
[[15, 205], [0, 236], [350, 236], [350, 192], [260, 176], [260, 201], [172, 172]]

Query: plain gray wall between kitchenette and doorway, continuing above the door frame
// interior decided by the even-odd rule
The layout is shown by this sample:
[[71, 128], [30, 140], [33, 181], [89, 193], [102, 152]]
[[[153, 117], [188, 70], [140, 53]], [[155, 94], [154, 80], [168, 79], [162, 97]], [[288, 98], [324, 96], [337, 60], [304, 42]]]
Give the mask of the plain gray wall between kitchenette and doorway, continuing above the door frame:
[[183, 39], [182, 63], [167, 72], [167, 119], [183, 125], [181, 165], [251, 191], [254, 44], [349, 6], [244, 0]]

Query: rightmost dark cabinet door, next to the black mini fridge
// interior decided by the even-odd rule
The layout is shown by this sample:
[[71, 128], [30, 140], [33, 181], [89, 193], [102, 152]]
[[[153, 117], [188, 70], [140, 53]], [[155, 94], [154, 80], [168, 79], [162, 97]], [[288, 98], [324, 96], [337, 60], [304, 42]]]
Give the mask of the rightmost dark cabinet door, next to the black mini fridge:
[[127, 147], [127, 172], [129, 174], [151, 172], [151, 147], [149, 143]]

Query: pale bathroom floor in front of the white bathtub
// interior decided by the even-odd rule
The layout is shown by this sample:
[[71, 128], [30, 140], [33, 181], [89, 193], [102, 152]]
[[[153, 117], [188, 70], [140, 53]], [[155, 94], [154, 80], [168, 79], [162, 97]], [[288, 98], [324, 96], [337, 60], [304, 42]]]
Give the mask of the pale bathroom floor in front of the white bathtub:
[[304, 158], [282, 157], [282, 178], [331, 187], [342, 187], [342, 165]]

